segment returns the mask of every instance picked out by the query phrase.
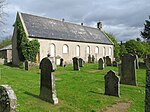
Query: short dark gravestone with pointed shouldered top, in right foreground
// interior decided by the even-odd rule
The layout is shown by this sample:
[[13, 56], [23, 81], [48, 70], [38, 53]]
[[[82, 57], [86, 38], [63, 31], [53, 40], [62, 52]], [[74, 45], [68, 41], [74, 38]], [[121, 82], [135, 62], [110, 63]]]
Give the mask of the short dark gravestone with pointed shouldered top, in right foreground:
[[105, 75], [105, 95], [120, 96], [120, 81], [115, 72], [110, 70]]

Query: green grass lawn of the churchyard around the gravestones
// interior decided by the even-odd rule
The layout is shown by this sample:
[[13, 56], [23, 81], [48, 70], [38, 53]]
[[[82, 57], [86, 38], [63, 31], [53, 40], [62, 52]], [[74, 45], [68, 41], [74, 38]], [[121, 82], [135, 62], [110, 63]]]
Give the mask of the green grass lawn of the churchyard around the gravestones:
[[121, 97], [104, 95], [104, 75], [116, 67], [97, 70], [96, 64], [86, 64], [80, 71], [72, 66], [58, 67], [54, 73], [59, 104], [52, 105], [39, 98], [40, 70], [30, 71], [0, 65], [0, 85], [10, 85], [17, 95], [20, 112], [101, 112], [117, 102], [131, 102], [129, 112], [144, 112], [145, 69], [137, 70], [138, 86], [121, 84]]

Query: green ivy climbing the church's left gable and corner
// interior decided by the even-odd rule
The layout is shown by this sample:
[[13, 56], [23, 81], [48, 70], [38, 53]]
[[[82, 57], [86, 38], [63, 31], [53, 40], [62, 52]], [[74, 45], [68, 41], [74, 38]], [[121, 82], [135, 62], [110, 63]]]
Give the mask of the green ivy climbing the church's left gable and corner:
[[39, 52], [40, 44], [38, 40], [29, 41], [21, 22], [17, 19], [17, 50], [20, 61], [35, 61]]

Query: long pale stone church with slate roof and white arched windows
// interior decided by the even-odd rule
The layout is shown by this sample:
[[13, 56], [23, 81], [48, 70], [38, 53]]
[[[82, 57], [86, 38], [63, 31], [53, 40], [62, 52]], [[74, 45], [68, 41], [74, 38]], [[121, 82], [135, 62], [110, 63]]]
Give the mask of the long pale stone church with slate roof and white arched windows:
[[[35, 16], [26, 13], [17, 13], [23, 29], [29, 40], [37, 39], [40, 50], [36, 61], [40, 62], [48, 54], [58, 65], [60, 58], [65, 63], [72, 63], [73, 57], [88, 61], [89, 54], [99, 58], [109, 56], [113, 59], [113, 43], [102, 31], [101, 22], [97, 28], [74, 24], [63, 20], [55, 20], [46, 17]], [[12, 38], [12, 62], [18, 65], [17, 30], [14, 25]]]

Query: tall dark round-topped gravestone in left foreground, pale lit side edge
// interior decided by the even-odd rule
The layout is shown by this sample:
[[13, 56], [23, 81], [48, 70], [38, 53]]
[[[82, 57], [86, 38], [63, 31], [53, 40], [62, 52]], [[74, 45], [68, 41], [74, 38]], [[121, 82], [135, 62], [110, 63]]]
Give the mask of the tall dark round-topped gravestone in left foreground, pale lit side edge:
[[57, 104], [58, 98], [56, 97], [55, 77], [53, 74], [54, 67], [48, 57], [43, 58], [40, 62], [40, 69], [40, 97], [45, 101]]

